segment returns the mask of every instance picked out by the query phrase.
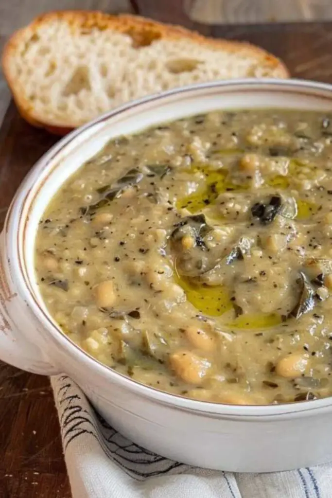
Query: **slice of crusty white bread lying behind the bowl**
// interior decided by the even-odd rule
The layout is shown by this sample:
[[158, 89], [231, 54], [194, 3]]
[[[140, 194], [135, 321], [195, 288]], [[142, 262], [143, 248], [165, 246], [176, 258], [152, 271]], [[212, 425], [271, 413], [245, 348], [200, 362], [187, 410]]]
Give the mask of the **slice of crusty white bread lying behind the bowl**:
[[22, 116], [65, 133], [126, 101], [191, 83], [288, 77], [248, 43], [131, 15], [58, 11], [7, 42], [3, 72]]

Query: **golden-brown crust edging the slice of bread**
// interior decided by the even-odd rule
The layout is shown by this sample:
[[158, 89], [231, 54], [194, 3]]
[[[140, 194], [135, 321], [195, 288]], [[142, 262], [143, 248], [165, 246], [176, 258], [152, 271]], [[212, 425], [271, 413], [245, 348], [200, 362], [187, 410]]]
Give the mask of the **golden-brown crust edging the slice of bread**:
[[119, 33], [129, 35], [136, 46], [149, 45], [151, 41], [157, 39], [176, 40], [187, 38], [188, 40], [199, 42], [200, 44], [226, 50], [229, 53], [236, 53], [239, 49], [244, 51], [244, 55], [255, 55], [261, 58], [262, 65], [274, 71], [279, 78], [288, 78], [289, 72], [282, 61], [266, 52], [264, 49], [251, 45], [247, 42], [224, 40], [218, 38], [207, 38], [196, 31], [190, 31], [181, 26], [163, 24], [135, 15], [111, 15], [100, 11], [86, 10], [59, 10], [42, 14], [36, 17], [28, 26], [16, 31], [7, 41], [2, 55], [3, 74], [12, 92], [21, 116], [30, 124], [37, 127], [44, 127], [59, 135], [64, 135], [77, 127], [75, 123], [55, 123], [41, 120], [38, 113], [25, 97], [24, 86], [19, 81], [14, 81], [10, 74], [10, 60], [15, 57], [17, 48], [26, 33], [31, 36], [35, 34], [40, 26], [54, 20], [62, 20], [68, 23], [73, 31], [82, 32], [97, 28], [99, 30], [111, 29]]

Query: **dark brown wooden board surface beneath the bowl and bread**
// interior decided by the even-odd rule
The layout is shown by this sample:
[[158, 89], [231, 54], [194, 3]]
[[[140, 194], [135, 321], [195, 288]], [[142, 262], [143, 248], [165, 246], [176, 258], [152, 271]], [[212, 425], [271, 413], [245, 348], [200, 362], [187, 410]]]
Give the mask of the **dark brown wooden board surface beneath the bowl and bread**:
[[[131, 4], [137, 13], [206, 35], [259, 44], [283, 58], [293, 76], [332, 82], [332, 23], [207, 26], [192, 23], [178, 0]], [[9, 106], [0, 129], [0, 226], [21, 179], [56, 140]], [[0, 498], [70, 496], [48, 378], [0, 364]]]

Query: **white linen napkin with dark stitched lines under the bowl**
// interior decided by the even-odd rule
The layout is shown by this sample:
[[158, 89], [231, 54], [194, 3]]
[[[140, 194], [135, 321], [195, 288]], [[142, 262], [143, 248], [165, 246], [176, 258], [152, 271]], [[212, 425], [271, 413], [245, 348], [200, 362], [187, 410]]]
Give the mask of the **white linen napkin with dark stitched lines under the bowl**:
[[239, 474], [173, 462], [116, 432], [68, 375], [51, 384], [73, 498], [332, 498], [332, 464]]

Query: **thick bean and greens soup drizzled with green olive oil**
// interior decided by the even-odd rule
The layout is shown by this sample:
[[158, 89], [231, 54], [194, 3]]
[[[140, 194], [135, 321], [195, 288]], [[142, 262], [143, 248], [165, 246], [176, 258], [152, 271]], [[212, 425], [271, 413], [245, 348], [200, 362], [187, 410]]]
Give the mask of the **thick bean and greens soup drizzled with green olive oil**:
[[36, 273], [114, 370], [234, 404], [332, 394], [332, 116], [214, 112], [109, 142], [59, 190]]

